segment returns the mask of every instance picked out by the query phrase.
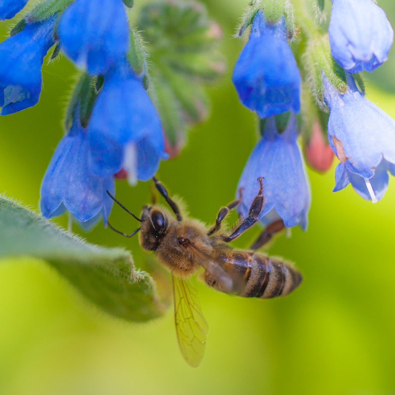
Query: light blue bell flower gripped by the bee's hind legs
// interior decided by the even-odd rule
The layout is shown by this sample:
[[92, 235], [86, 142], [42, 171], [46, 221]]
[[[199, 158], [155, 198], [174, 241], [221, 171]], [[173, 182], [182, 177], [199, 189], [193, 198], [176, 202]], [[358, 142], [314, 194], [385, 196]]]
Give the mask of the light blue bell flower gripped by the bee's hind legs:
[[239, 212], [246, 216], [259, 191], [258, 177], [264, 177], [265, 205], [260, 219], [265, 225], [280, 217], [286, 227], [307, 226], [310, 190], [299, 147], [296, 117], [291, 114], [279, 134], [275, 118], [266, 121], [263, 137], [253, 149], [238, 182], [241, 188]]

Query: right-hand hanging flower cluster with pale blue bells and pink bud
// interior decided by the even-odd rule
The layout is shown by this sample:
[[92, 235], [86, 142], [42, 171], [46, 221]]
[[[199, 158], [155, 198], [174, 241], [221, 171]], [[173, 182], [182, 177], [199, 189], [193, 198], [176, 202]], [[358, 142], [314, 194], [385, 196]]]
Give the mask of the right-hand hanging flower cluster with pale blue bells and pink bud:
[[334, 155], [339, 159], [334, 192], [351, 183], [376, 202], [395, 175], [395, 121], [364, 97], [356, 74], [387, 60], [393, 30], [374, 1], [332, 2], [328, 35], [314, 15], [299, 10], [295, 21], [290, 3], [269, 0], [252, 1], [239, 30], [241, 36], [251, 26], [233, 82], [241, 103], [261, 119], [262, 138], [240, 177], [238, 210], [247, 214], [263, 177], [260, 219], [267, 227], [282, 220], [306, 228], [310, 193], [298, 134], [311, 167], [326, 171]]

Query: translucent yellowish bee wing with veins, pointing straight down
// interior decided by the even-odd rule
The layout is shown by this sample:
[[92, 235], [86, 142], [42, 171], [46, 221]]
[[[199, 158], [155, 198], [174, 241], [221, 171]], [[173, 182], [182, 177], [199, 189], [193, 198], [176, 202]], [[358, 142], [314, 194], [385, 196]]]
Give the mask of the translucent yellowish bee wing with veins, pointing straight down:
[[181, 354], [197, 367], [204, 355], [208, 325], [201, 313], [197, 290], [182, 278], [173, 276], [174, 320]]

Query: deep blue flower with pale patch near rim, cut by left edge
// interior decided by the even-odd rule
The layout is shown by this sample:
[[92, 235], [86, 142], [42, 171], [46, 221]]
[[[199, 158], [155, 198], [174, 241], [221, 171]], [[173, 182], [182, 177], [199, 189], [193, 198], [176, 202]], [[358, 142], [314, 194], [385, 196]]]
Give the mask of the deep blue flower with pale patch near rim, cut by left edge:
[[41, 65], [54, 44], [56, 15], [29, 23], [15, 36], [0, 44], [0, 115], [7, 115], [38, 103]]

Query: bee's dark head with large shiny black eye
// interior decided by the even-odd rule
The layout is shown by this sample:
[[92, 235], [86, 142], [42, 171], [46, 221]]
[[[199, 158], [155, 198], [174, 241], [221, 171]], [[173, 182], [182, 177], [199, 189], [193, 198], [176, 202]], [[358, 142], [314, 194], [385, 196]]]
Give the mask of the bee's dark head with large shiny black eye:
[[158, 207], [144, 205], [141, 219], [140, 244], [146, 250], [155, 251], [166, 234], [167, 216]]

